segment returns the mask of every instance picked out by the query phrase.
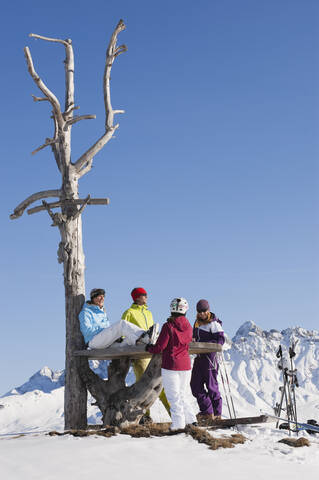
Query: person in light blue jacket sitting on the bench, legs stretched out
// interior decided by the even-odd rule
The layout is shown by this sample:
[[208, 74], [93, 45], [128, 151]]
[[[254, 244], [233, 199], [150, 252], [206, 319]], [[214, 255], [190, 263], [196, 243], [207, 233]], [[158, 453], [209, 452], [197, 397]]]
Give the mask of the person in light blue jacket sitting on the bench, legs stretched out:
[[155, 328], [152, 324], [147, 331], [125, 320], [110, 325], [104, 299], [105, 290], [93, 288], [90, 300], [84, 303], [79, 314], [80, 330], [89, 348], [107, 348], [123, 336], [125, 338], [122, 345], [135, 345], [136, 342], [155, 343], [158, 325]]

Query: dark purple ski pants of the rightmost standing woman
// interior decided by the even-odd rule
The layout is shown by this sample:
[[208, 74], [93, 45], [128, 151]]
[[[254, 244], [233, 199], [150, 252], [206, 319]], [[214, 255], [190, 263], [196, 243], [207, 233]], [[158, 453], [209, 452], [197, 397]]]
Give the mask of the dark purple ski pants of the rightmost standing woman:
[[197, 356], [194, 360], [191, 389], [196, 397], [200, 413], [204, 415], [221, 415], [222, 398], [217, 381], [218, 365], [205, 356]]

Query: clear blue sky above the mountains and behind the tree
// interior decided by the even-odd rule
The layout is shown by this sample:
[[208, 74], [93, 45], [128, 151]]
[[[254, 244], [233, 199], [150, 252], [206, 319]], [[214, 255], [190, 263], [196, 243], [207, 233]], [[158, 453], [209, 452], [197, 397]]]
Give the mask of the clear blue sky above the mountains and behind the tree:
[[105, 287], [110, 319], [149, 292], [163, 322], [174, 296], [207, 298], [232, 336], [318, 328], [319, 3], [312, 0], [6, 2], [1, 10], [0, 393], [64, 366], [64, 287], [47, 213], [11, 221], [21, 200], [59, 188], [52, 133], [23, 56], [61, 100], [72, 38], [76, 159], [103, 132], [102, 75], [113, 28], [128, 52], [112, 71], [120, 128], [80, 181], [86, 287]]

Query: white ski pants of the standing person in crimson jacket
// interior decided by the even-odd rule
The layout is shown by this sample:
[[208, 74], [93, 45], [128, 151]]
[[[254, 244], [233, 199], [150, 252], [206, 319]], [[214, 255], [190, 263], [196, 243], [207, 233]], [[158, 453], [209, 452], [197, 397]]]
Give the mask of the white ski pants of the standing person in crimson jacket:
[[171, 407], [171, 430], [185, 428], [196, 422], [196, 416], [190, 403], [191, 370], [166, 370], [162, 368], [162, 382], [167, 400]]

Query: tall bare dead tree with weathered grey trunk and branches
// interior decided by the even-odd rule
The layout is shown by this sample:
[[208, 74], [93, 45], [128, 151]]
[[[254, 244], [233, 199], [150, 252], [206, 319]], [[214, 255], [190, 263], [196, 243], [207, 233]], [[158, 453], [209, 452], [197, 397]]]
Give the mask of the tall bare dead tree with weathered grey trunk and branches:
[[[54, 93], [45, 85], [41, 77], [36, 72], [31, 53], [28, 47], [25, 47], [24, 53], [27, 61], [28, 71], [37, 87], [41, 90], [41, 97], [33, 95], [36, 102], [46, 101], [52, 107], [53, 135], [46, 138], [43, 145], [35, 149], [35, 154], [45, 147], [50, 147], [57, 167], [61, 173], [62, 184], [58, 189], [45, 190], [34, 193], [23, 200], [15, 209], [11, 219], [20, 217], [24, 211], [37, 200], [42, 200], [42, 205], [30, 208], [28, 214], [33, 214], [41, 210], [46, 210], [52, 219], [52, 226], [58, 227], [61, 241], [58, 248], [58, 262], [63, 263], [64, 269], [64, 287], [65, 287], [65, 315], [66, 315], [66, 360], [65, 360], [65, 427], [83, 428], [87, 425], [86, 405], [87, 405], [87, 387], [95, 395], [101, 390], [101, 379], [88, 369], [87, 359], [79, 358], [73, 355], [75, 350], [83, 348], [83, 337], [79, 328], [78, 314], [85, 299], [85, 278], [84, 278], [84, 253], [82, 247], [82, 220], [81, 214], [87, 205], [108, 204], [109, 200], [93, 199], [88, 195], [85, 199], [79, 198], [78, 182], [83, 175], [92, 168], [95, 155], [109, 142], [119, 124], [114, 124], [114, 116], [118, 113], [124, 113], [123, 110], [113, 110], [111, 104], [110, 92], [110, 74], [114, 60], [121, 53], [125, 52], [125, 45], [117, 45], [117, 37], [125, 29], [124, 22], [119, 21], [116, 26], [106, 52], [106, 63], [103, 77], [104, 104], [105, 104], [105, 131], [101, 137], [81, 155], [76, 161], [71, 161], [71, 130], [73, 125], [81, 120], [95, 118], [95, 115], [74, 115], [79, 107], [74, 103], [74, 56], [72, 41], [70, 39], [61, 40], [56, 38], [47, 38], [40, 35], [30, 34], [30, 37], [38, 38], [48, 42], [62, 44], [65, 48], [65, 105], [64, 111]], [[48, 203], [48, 198], [56, 198], [54, 202]], [[58, 212], [53, 213], [53, 209], [58, 208]], [[121, 360], [125, 364], [124, 369], [118, 375], [116, 368], [111, 368], [111, 376], [114, 378], [105, 384], [105, 400], [97, 401], [104, 405], [104, 415], [107, 410], [108, 390], [112, 390], [113, 402], [114, 394], [117, 390], [123, 389], [123, 375], [127, 371], [127, 361]], [[118, 365], [120, 366], [120, 365]], [[117, 380], [118, 381], [117, 381]], [[144, 381], [141, 382], [140, 389], [148, 390]], [[104, 385], [104, 384], [103, 384]], [[126, 394], [125, 394], [126, 395]], [[125, 397], [124, 395], [124, 397]], [[145, 394], [146, 395], [146, 394]], [[144, 395], [144, 396], [145, 396]], [[136, 396], [141, 396], [139, 390]], [[147, 395], [146, 395], [147, 396]], [[123, 402], [126, 399], [123, 397]], [[143, 397], [143, 395], [142, 395]], [[143, 397], [144, 398], [144, 397]], [[142, 399], [143, 402], [143, 399]], [[126, 402], [127, 403], [127, 402]], [[134, 403], [134, 402], [133, 402]], [[137, 401], [137, 404], [141, 403]], [[149, 403], [149, 402], [146, 402]], [[136, 407], [138, 415], [140, 407]], [[114, 415], [116, 416], [116, 412]], [[114, 416], [113, 415], [113, 416]], [[118, 417], [119, 415], [117, 415]], [[125, 416], [125, 414], [124, 414]], [[124, 417], [123, 417], [124, 418]], [[112, 418], [109, 418], [110, 422]]]

